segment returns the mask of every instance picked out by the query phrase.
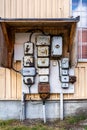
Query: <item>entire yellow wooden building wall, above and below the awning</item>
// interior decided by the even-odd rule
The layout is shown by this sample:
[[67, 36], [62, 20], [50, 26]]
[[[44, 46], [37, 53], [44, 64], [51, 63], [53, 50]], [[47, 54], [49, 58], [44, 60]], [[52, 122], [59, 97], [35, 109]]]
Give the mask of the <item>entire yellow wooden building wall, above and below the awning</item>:
[[[2, 18], [68, 18], [70, 0], [0, 0]], [[15, 64], [20, 69], [20, 63]], [[77, 81], [75, 93], [64, 95], [64, 99], [87, 99], [87, 63], [78, 63], [75, 68]], [[22, 92], [21, 75], [7, 68], [0, 68], [0, 100], [20, 100]], [[29, 99], [29, 97], [27, 97]], [[39, 95], [31, 95], [39, 100]], [[51, 100], [58, 100], [59, 94], [51, 94]]]

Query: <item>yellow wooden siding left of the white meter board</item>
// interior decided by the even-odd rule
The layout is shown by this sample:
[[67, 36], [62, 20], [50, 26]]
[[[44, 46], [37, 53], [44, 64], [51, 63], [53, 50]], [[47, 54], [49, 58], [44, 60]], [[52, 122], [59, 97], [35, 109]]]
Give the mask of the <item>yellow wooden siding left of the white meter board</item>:
[[[19, 69], [20, 63], [15, 65]], [[7, 68], [0, 68], [0, 100], [21, 99], [21, 75]]]

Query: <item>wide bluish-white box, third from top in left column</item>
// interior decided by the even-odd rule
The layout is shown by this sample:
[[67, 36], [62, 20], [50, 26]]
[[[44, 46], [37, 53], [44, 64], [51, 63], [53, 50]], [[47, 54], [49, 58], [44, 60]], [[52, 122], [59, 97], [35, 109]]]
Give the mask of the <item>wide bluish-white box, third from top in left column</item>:
[[23, 67], [23, 76], [35, 76], [36, 70], [34, 67]]

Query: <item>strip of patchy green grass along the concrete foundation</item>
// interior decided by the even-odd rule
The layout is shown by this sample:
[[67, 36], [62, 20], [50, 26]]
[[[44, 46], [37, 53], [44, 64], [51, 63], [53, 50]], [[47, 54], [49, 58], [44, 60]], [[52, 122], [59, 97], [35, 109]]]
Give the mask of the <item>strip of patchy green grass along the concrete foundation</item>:
[[[0, 120], [0, 130], [67, 130], [72, 126], [78, 125], [82, 120], [85, 120], [85, 115], [79, 115], [74, 117], [65, 118], [63, 121], [48, 121], [46, 124], [43, 122], [20, 122], [19, 120]], [[87, 130], [87, 126], [83, 126], [84, 130]]]

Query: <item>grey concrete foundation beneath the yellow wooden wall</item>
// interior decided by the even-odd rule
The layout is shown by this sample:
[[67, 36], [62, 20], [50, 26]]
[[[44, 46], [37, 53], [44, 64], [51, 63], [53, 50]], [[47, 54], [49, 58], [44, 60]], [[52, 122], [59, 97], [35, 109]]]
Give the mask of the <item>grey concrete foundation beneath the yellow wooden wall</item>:
[[[26, 118], [42, 119], [42, 101], [27, 101]], [[0, 101], [0, 119], [20, 119], [21, 101]], [[57, 119], [60, 117], [59, 101], [46, 101], [46, 118]], [[78, 114], [87, 114], [87, 100], [85, 101], [64, 101], [64, 117]]]

